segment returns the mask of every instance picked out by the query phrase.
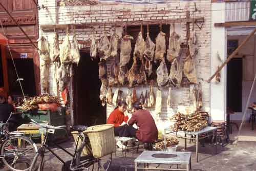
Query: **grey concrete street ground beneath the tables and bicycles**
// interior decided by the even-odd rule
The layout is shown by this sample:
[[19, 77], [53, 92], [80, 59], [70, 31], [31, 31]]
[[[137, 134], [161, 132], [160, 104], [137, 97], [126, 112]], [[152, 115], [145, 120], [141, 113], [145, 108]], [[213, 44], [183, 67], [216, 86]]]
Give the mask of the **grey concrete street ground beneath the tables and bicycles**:
[[[236, 136], [235, 128], [233, 127], [233, 134], [231, 137]], [[256, 132], [256, 130], [254, 131]], [[250, 136], [254, 137], [254, 133]], [[247, 137], [248, 138], [248, 137]], [[255, 138], [255, 137], [254, 137]], [[250, 138], [249, 138], [250, 139]], [[73, 152], [73, 140], [70, 137], [70, 140], [61, 144], [68, 151]], [[212, 145], [208, 143], [205, 144], [205, 147], [200, 146], [199, 148], [199, 162], [196, 162], [196, 154], [195, 154], [195, 144], [188, 143], [187, 152], [192, 152], [192, 169], [196, 170], [223, 170], [223, 171], [247, 171], [247, 170], [256, 170], [256, 153], [255, 153], [255, 145], [256, 141], [239, 141], [237, 144], [226, 144], [222, 147], [220, 144], [217, 148], [217, 154], [214, 154], [214, 148]], [[126, 153], [126, 157], [124, 157], [124, 153], [116, 152], [116, 155], [113, 154], [113, 161], [111, 164], [110, 170], [113, 171], [128, 171], [134, 170], [134, 159], [140, 155], [140, 153], [144, 150], [141, 145], [139, 148], [139, 152], [136, 151], [136, 147], [130, 147], [129, 152]], [[180, 139], [180, 143], [178, 146], [178, 151], [184, 151], [184, 140]], [[56, 152], [61, 159], [68, 161], [71, 158], [63, 153], [60, 149], [53, 148], [54, 152]], [[165, 167], [160, 165], [161, 167]], [[162, 170], [160, 169], [159, 170]], [[176, 168], [173, 166], [172, 168]], [[180, 166], [180, 168], [185, 168], [185, 166]], [[0, 168], [0, 170], [9, 170], [6, 167]], [[62, 170], [62, 164], [58, 162], [50, 153], [47, 153], [45, 167], [44, 170]], [[97, 167], [96, 169], [97, 170]], [[103, 169], [99, 169], [103, 170]]]

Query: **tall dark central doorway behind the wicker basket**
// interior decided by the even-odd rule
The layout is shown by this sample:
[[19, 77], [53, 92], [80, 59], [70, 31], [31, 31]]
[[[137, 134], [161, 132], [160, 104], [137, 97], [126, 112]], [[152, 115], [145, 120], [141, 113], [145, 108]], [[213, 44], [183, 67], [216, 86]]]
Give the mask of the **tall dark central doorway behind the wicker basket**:
[[90, 53], [81, 53], [78, 66], [74, 66], [74, 124], [106, 123], [106, 108], [101, 106], [99, 99], [98, 62], [90, 59]]

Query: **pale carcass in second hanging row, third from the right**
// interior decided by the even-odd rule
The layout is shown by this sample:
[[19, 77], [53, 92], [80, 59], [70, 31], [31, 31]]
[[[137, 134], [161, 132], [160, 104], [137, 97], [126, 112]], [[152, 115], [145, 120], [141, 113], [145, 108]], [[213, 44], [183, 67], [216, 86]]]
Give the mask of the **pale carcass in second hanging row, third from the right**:
[[159, 87], [164, 87], [169, 81], [168, 71], [166, 67], [165, 60], [163, 59], [160, 66], [157, 69], [157, 83]]

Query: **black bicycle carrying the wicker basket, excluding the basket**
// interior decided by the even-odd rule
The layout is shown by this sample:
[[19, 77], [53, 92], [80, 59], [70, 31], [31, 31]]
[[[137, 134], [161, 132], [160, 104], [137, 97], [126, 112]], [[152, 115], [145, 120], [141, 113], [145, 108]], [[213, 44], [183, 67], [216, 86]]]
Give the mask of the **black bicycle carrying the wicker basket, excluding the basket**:
[[[57, 146], [58, 148], [60, 148], [63, 152], [65, 152], [66, 154], [70, 155], [73, 159], [70, 162], [69, 166], [68, 166], [68, 170], [93, 170], [94, 169], [94, 165], [95, 163], [98, 164], [98, 170], [100, 168], [102, 168], [101, 166], [101, 161], [102, 160], [106, 160], [106, 168], [105, 170], [109, 170], [110, 165], [111, 165], [111, 161], [112, 161], [112, 153], [110, 155], [106, 155], [104, 157], [101, 158], [95, 158], [93, 156], [92, 153], [92, 148], [90, 145], [90, 140], [88, 138], [88, 136], [83, 134], [83, 131], [87, 130], [87, 126], [84, 125], [76, 125], [76, 126], [71, 126], [71, 129], [73, 131], [78, 132], [78, 136], [75, 140], [75, 150], [74, 150], [74, 154], [71, 154], [70, 152], [68, 152], [66, 149], [64, 149], [63, 147], [61, 147], [60, 145], [56, 144], [55, 142], [52, 142], [49, 138], [50, 134], [54, 134], [55, 130], [57, 129], [62, 129], [65, 130], [66, 126], [51, 126], [51, 125], [42, 125], [39, 124], [37, 122], [35, 122], [34, 120], [31, 120], [32, 123], [35, 123], [37, 125], [39, 125], [40, 127], [44, 128], [44, 134], [45, 134], [45, 139], [43, 141], [43, 143], [41, 144], [41, 146], [38, 148], [38, 152], [35, 155], [33, 162], [32, 162], [32, 167], [30, 169], [30, 171], [43, 171], [44, 170], [44, 158], [45, 158], [45, 153], [46, 153], [46, 149], [48, 149], [48, 151], [56, 157], [56, 159], [58, 159], [58, 161], [60, 161], [63, 166], [67, 166], [66, 162], [63, 161], [56, 153], [54, 153], [51, 148], [46, 144], [47, 140], [48, 143], [52, 143], [55, 146]], [[80, 145], [79, 145], [80, 143]], [[87, 151], [89, 152], [87, 155], [83, 155], [83, 149], [86, 148]], [[38, 163], [39, 161], [39, 163]]]

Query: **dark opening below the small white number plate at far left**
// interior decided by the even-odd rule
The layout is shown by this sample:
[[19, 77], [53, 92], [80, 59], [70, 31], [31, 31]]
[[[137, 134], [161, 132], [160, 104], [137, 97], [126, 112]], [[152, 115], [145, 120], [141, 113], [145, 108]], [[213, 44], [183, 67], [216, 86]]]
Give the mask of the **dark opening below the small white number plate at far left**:
[[[12, 95], [22, 95], [22, 90], [17, 81], [17, 75], [13, 62], [11, 59], [8, 61], [8, 78], [9, 90]], [[35, 77], [34, 77], [34, 63], [33, 59], [14, 59], [19, 78], [23, 78], [22, 87], [26, 96], [35, 96]]]

